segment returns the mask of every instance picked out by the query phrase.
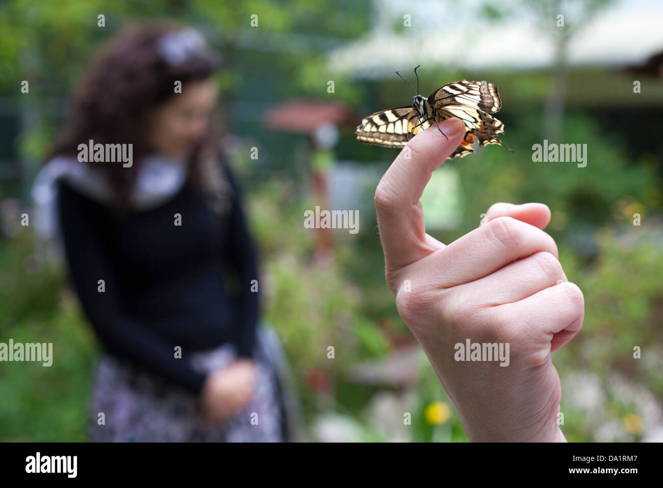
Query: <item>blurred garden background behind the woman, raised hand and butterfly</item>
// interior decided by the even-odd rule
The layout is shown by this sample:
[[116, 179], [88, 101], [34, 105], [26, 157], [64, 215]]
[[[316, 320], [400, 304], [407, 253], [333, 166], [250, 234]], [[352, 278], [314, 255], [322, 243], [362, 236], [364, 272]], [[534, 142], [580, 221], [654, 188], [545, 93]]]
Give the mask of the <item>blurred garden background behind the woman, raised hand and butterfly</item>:
[[[384, 281], [373, 192], [397, 151], [353, 133], [362, 116], [410, 103], [394, 71], [414, 84], [421, 64], [424, 96], [463, 78], [497, 84], [501, 140], [514, 149], [444, 163], [422, 197], [428, 232], [455, 240], [500, 201], [550, 206], [546, 231], [585, 296], [583, 329], [553, 355], [562, 430], [569, 441], [663, 440], [660, 4], [6, 0], [0, 342], [52, 342], [55, 360], [0, 365], [0, 441], [86, 440], [99, 346], [62, 263], [46, 257], [21, 214], [30, 215], [32, 179], [90, 56], [139, 19], [196, 27], [230, 62], [217, 77], [218, 118], [260, 249], [263, 316], [292, 366], [305, 439], [467, 440]], [[326, 123], [306, 133], [288, 125], [292, 111]], [[532, 161], [544, 139], [586, 144], [587, 166]], [[359, 210], [359, 232], [304, 228], [304, 211], [321, 201]]]

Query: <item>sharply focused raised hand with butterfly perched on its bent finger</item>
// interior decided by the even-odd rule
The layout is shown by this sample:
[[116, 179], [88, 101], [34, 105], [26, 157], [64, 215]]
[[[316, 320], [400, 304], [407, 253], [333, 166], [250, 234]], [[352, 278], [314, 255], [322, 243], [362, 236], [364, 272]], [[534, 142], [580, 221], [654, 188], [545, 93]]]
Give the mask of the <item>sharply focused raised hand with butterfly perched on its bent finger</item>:
[[[461, 143], [455, 118], [422, 131], [375, 192], [385, 278], [470, 441], [565, 442], [562, 387], [551, 353], [579, 331], [580, 289], [569, 283], [543, 204], [495, 204], [484, 224], [448, 246], [426, 234], [419, 201], [431, 173]], [[459, 347], [497, 343], [507, 361], [456, 361]], [[507, 350], [507, 343], [509, 349]], [[464, 355], [462, 356], [465, 357]], [[484, 358], [485, 359], [485, 358]]]

